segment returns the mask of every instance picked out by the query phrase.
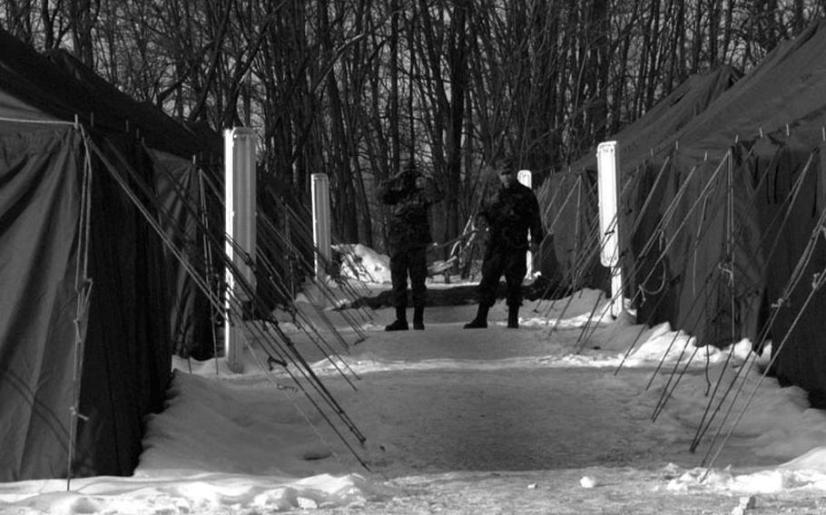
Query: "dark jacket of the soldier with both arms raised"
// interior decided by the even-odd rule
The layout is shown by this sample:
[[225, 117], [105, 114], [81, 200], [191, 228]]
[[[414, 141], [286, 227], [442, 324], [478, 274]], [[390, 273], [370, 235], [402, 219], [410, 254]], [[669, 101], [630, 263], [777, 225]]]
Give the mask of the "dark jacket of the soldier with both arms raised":
[[388, 248], [400, 251], [424, 247], [433, 241], [428, 208], [439, 193], [433, 180], [426, 178], [424, 189], [416, 188], [416, 174], [403, 173], [379, 184], [379, 200], [392, 208], [388, 222]]

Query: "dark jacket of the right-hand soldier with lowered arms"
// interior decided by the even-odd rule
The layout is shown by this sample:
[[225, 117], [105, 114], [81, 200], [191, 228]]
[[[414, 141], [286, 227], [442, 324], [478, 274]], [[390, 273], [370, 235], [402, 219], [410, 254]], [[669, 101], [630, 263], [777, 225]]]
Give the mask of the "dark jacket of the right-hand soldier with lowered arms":
[[544, 229], [539, 218], [539, 203], [534, 192], [520, 182], [510, 188], [500, 185], [497, 193], [479, 216], [487, 220], [487, 253], [527, 250], [527, 231], [535, 242], [542, 241]]

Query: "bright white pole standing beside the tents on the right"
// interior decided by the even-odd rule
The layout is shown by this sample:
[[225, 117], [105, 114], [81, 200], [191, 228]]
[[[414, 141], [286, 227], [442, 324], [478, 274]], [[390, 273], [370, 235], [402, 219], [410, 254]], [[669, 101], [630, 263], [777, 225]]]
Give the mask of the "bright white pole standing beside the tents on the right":
[[604, 141], [596, 148], [599, 190], [599, 233], [602, 241], [600, 261], [611, 268], [611, 315], [619, 316], [624, 309], [622, 267], [619, 264], [619, 151], [616, 141]]

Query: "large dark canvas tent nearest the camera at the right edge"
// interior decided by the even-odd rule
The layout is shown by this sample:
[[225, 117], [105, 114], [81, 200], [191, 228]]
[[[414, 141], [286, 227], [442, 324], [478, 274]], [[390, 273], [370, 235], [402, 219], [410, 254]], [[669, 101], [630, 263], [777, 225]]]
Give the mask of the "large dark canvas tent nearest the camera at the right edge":
[[[772, 370], [826, 393], [826, 23], [770, 53], [680, 130], [620, 143], [626, 295], [703, 344], [772, 340]], [[627, 151], [626, 151], [627, 149]]]

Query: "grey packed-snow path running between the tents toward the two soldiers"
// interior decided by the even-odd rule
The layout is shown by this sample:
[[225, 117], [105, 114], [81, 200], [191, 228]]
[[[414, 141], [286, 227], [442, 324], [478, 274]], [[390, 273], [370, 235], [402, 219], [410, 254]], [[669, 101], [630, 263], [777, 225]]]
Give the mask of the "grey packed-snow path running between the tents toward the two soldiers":
[[[658, 432], [651, 420], [661, 390], [640, 385], [654, 364], [615, 374], [616, 361], [598, 365], [601, 349], [566, 360], [579, 327], [550, 336], [544, 325], [507, 329], [495, 311], [487, 329], [464, 330], [439, 314], [428, 310], [425, 331], [375, 332], [357, 345], [349, 360], [366, 372], [358, 391], [335, 375], [325, 378], [349, 416], [371, 428], [364, 458], [372, 471], [396, 477], [668, 462], [691, 468], [702, 461], [706, 446], [689, 452], [691, 423], [699, 421], [684, 421], [681, 437], [673, 429]], [[697, 413], [666, 406], [660, 417], [674, 422], [683, 415]], [[719, 460], [776, 463], [740, 452], [739, 443], [729, 442]]]

